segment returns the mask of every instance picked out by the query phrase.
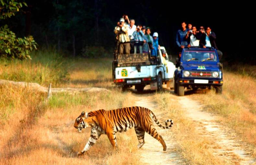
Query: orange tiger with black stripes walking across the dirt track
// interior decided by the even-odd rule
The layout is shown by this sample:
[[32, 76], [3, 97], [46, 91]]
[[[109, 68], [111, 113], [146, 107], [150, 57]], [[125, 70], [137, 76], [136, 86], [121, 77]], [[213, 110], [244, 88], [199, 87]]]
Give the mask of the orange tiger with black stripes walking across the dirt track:
[[[134, 106], [113, 110], [100, 109], [97, 111], [91, 111], [89, 113], [82, 112], [80, 116], [76, 118], [74, 127], [79, 133], [83, 128], [92, 127], [91, 135], [82, 151], [79, 151], [77, 155], [83, 155], [87, 152], [99, 139], [101, 134], [106, 134], [109, 138], [112, 147], [117, 147], [116, 133], [127, 131], [129, 128], [134, 127], [140, 149], [144, 144], [145, 132], [157, 139], [163, 146], [163, 150], [166, 151], [167, 147], [161, 135], [157, 133], [156, 128], [153, 125], [153, 120], [157, 126], [163, 129], [172, 127], [173, 122], [171, 119], [165, 121], [165, 126], [162, 126], [158, 121], [154, 113], [148, 108]], [[168, 125], [168, 123], [170, 123]]]

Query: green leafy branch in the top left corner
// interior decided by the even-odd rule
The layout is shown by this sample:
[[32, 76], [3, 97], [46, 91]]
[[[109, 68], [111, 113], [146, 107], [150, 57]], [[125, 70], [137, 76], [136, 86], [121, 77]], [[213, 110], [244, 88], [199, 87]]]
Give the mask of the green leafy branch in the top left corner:
[[0, 19], [14, 16], [23, 5], [28, 6], [23, 0], [0, 0]]

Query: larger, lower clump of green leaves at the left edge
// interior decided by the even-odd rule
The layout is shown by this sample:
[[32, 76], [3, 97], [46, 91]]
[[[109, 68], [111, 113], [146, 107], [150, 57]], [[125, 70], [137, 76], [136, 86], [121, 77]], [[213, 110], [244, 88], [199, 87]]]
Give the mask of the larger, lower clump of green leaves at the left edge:
[[29, 53], [36, 48], [37, 43], [32, 36], [16, 38], [7, 25], [0, 27], [0, 57], [31, 59]]

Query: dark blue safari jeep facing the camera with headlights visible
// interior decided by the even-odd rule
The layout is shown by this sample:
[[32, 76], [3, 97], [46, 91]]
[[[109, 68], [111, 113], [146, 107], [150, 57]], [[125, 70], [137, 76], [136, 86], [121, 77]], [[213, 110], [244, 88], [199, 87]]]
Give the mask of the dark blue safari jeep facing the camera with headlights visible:
[[184, 48], [176, 62], [179, 66], [176, 66], [178, 68], [174, 72], [175, 94], [183, 96], [185, 87], [193, 90], [214, 87], [216, 93], [222, 93], [223, 67], [216, 49]]

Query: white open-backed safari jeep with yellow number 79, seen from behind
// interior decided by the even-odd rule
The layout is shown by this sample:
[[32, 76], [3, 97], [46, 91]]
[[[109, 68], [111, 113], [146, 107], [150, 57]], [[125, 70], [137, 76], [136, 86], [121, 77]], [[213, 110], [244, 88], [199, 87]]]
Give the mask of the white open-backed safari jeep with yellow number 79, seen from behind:
[[[118, 51], [116, 60], [112, 63], [113, 84], [122, 86], [122, 90], [134, 85], [138, 92], [142, 92], [146, 85], [150, 85], [150, 90], [161, 90], [164, 83], [167, 84], [167, 88], [174, 87], [173, 77], [176, 68], [169, 61], [168, 58], [171, 56], [168, 57], [164, 47], [158, 49], [157, 57], [152, 57], [147, 43], [139, 43], [143, 46], [144, 53], [134, 53], [134, 45], [138, 43], [120, 43], [119, 48], [122, 44], [130, 44], [131, 51], [130, 54]], [[162, 51], [165, 51], [166, 57], [163, 57]]]

